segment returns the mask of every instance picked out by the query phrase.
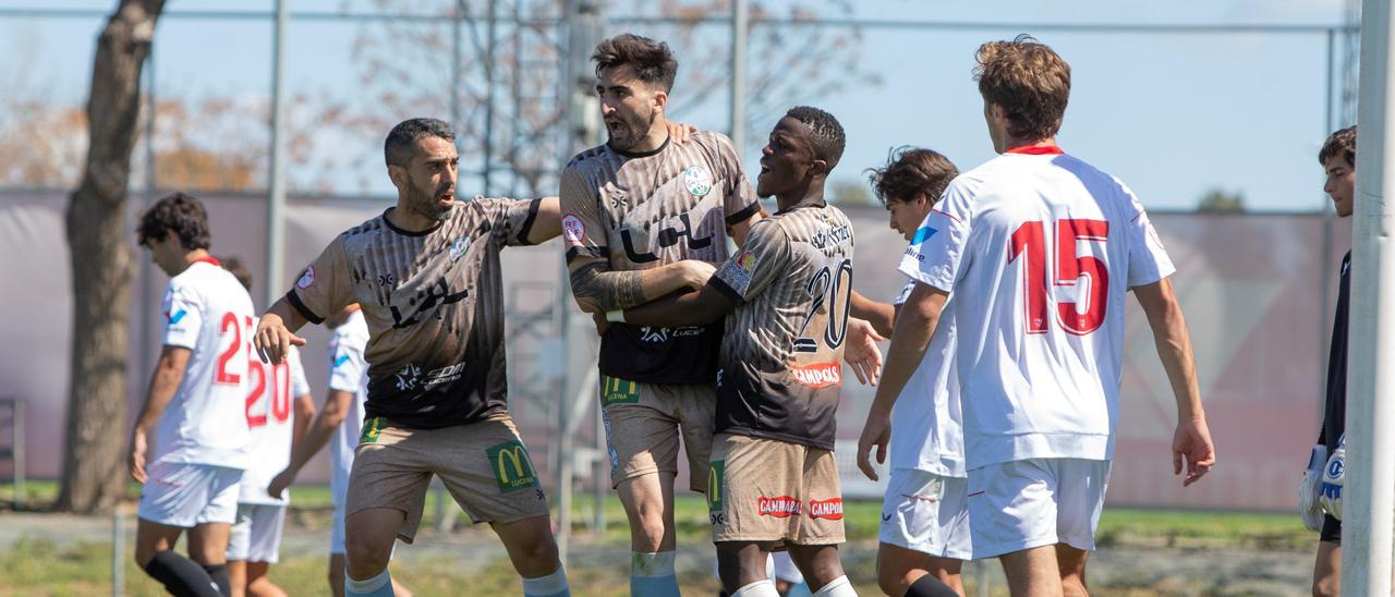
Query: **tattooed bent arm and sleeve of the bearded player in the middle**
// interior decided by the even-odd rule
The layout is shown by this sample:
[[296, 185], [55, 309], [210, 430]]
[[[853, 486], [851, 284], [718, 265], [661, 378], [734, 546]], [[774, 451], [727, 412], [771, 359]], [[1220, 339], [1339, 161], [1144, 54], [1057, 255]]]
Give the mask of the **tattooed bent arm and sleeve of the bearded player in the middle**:
[[608, 240], [603, 232], [605, 216], [576, 170], [562, 173], [559, 208], [572, 294], [582, 311], [636, 307], [684, 287], [700, 287], [711, 276], [713, 266], [702, 261], [678, 261], [643, 271], [611, 271]]

